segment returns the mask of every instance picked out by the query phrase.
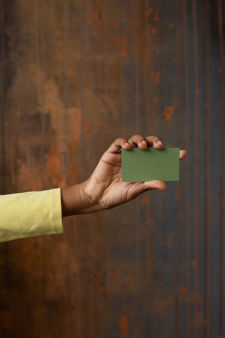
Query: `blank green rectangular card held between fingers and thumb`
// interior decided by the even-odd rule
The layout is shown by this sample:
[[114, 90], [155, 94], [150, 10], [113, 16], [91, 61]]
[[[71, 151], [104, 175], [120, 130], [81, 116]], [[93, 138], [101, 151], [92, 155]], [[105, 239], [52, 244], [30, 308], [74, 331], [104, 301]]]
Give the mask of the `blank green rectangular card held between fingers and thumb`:
[[121, 149], [122, 182], [179, 180], [180, 148]]

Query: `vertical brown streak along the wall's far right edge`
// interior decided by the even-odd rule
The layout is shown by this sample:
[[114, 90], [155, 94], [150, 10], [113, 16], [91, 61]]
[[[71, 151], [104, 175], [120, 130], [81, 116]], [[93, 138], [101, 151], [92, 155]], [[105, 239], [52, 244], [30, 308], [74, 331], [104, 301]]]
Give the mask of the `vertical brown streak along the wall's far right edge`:
[[218, 29], [220, 43], [220, 116], [221, 116], [221, 149], [220, 149], [220, 218], [219, 218], [219, 337], [223, 336], [223, 194], [224, 194], [224, 132], [225, 132], [225, 86], [223, 66], [223, 8], [218, 0]]

